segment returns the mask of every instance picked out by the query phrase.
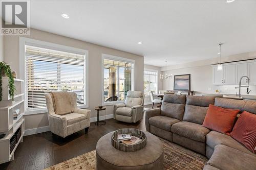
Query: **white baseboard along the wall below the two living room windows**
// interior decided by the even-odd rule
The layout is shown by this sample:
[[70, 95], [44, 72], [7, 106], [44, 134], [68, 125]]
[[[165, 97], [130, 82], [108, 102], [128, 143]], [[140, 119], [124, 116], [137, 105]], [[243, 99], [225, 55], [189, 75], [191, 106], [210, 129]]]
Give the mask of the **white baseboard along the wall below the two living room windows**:
[[[99, 116], [99, 120], [110, 119], [110, 118], [113, 118], [113, 114], [108, 114], [106, 116]], [[90, 118], [90, 122], [96, 122], [96, 121], [97, 121], [97, 117]], [[27, 129], [27, 130], [25, 130], [24, 136], [47, 132], [47, 131], [50, 131], [50, 126]]]

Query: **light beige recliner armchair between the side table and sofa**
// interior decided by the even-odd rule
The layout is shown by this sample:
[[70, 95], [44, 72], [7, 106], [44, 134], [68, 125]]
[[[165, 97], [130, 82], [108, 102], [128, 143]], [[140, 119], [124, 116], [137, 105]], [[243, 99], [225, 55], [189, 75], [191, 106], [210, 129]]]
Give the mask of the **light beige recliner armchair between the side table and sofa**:
[[143, 117], [144, 94], [141, 91], [128, 91], [122, 104], [114, 105], [114, 119], [136, 123]]

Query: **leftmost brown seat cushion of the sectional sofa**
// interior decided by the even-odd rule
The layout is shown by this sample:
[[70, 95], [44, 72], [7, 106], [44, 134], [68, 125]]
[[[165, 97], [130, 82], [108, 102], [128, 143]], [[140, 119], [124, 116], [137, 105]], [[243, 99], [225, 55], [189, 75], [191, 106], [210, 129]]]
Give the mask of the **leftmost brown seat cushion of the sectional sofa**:
[[172, 127], [173, 124], [180, 122], [180, 120], [167, 116], [154, 116], [151, 117], [148, 122], [157, 128], [170, 131], [170, 127]]

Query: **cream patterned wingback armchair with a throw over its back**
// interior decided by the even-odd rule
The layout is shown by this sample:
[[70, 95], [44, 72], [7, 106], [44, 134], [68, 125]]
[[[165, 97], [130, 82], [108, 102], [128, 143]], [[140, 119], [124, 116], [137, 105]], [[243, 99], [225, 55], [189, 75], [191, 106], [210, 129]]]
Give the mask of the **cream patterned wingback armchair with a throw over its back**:
[[52, 133], [61, 137], [82, 129], [87, 133], [90, 127], [91, 110], [77, 107], [76, 93], [66, 91], [47, 93], [46, 105]]

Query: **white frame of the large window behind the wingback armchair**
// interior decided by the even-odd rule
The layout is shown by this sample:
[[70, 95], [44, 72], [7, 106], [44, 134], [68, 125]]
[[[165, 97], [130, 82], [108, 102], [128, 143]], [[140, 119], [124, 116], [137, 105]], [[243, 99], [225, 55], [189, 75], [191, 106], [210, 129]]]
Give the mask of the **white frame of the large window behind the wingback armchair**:
[[[26, 52], [25, 45], [38, 46], [41, 48], [48, 48], [51, 50], [63, 51], [68, 53], [75, 53], [85, 55], [86, 58], [84, 62], [86, 62], [86, 82], [84, 83], [84, 93], [86, 103], [84, 105], [78, 106], [79, 108], [89, 108], [89, 53], [88, 50], [83, 50], [75, 47], [70, 47], [66, 45], [55, 44], [46, 41], [35, 40], [31, 38], [19, 37], [19, 78], [24, 80], [24, 91], [25, 91], [25, 100], [27, 100], [27, 85], [26, 85]], [[27, 105], [27, 101], [25, 101], [25, 105]], [[40, 114], [47, 113], [47, 109], [34, 109], [34, 110], [26, 110], [25, 106], [25, 115], [30, 114]]]

